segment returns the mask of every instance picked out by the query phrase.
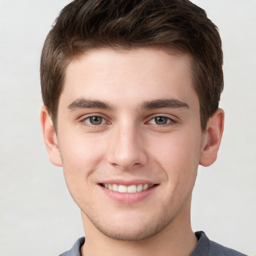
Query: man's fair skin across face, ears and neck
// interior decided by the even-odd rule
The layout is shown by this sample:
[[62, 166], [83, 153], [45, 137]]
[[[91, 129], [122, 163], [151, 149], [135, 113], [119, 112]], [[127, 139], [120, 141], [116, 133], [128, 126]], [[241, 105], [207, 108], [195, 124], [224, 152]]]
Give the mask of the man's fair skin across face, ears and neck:
[[[102, 122], [92, 124], [93, 116]], [[190, 225], [197, 166], [215, 161], [223, 117], [218, 109], [201, 130], [187, 54], [104, 48], [72, 61], [57, 135], [44, 106], [41, 124], [49, 159], [63, 166], [81, 209], [82, 255], [189, 255], [197, 243]], [[112, 180], [155, 186], [142, 199], [116, 200], [100, 186]]]

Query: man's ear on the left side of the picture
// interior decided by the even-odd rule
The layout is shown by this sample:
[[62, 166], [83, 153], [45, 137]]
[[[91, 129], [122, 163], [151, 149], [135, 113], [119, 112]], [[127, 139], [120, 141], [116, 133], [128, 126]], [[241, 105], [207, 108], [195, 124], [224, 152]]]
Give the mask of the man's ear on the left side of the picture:
[[40, 110], [40, 122], [49, 160], [56, 166], [62, 166], [56, 132], [45, 106]]

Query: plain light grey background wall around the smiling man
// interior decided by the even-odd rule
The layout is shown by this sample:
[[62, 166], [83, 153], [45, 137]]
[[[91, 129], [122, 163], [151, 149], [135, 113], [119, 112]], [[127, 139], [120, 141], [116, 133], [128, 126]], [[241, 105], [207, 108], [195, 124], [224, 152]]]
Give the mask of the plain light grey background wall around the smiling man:
[[[83, 235], [62, 169], [39, 126], [39, 55], [68, 0], [0, 0], [0, 255], [58, 255]], [[225, 130], [217, 161], [199, 167], [193, 230], [256, 255], [256, 1], [194, 0], [219, 27]]]

